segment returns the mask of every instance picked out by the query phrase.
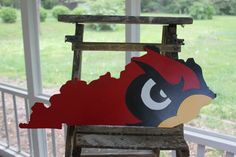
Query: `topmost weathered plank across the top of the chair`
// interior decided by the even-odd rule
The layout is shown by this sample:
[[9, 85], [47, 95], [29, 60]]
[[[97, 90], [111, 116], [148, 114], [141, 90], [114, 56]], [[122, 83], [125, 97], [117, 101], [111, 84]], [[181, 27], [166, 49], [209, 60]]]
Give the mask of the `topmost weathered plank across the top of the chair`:
[[191, 17], [147, 17], [106, 15], [59, 15], [58, 21], [68, 23], [117, 23], [117, 24], [192, 24]]

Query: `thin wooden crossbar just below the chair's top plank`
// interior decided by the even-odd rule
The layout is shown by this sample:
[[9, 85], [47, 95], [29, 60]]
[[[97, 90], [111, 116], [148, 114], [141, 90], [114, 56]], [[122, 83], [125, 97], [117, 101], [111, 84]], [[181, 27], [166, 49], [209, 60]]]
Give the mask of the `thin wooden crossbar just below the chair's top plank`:
[[112, 43], [112, 42], [83, 42], [73, 44], [73, 50], [91, 51], [144, 51], [144, 47], [156, 46], [165, 52], [180, 52], [180, 45], [163, 45], [158, 43]]

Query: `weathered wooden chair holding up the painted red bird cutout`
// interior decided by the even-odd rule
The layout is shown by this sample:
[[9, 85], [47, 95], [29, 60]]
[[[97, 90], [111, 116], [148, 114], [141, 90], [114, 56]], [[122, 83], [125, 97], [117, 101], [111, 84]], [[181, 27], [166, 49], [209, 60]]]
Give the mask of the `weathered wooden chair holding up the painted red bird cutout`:
[[[61, 15], [61, 22], [75, 23], [75, 35], [66, 36], [74, 51], [72, 78], [81, 75], [82, 50], [143, 51], [146, 45], [155, 45], [161, 54], [178, 59], [183, 45], [177, 39], [177, 25], [192, 24], [188, 17], [134, 17], [134, 16], [91, 16]], [[162, 43], [111, 43], [83, 42], [82, 23], [116, 24], [161, 24]], [[177, 157], [189, 156], [188, 145], [183, 137], [183, 125], [175, 128], [131, 127], [131, 126], [68, 126], [65, 157], [79, 157], [82, 148], [111, 148], [152, 150], [159, 156], [160, 150], [176, 150]]]

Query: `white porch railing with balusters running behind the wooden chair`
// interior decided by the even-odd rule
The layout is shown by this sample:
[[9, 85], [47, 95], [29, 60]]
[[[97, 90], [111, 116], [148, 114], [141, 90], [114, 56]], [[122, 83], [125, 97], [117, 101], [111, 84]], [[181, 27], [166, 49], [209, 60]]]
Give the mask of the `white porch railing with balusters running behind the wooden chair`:
[[[25, 90], [0, 84], [0, 156], [34, 156], [32, 133], [30, 130], [19, 130], [19, 121], [28, 121], [29, 104]], [[48, 103], [47, 96], [37, 97], [38, 101]], [[47, 141], [45, 151], [48, 157], [64, 154], [64, 131], [44, 129]], [[204, 157], [206, 147], [224, 151], [226, 157], [236, 156], [236, 137], [185, 126], [185, 138], [197, 144], [197, 157]], [[38, 139], [40, 140], [40, 139]], [[47, 157], [46, 156], [46, 157]], [[174, 153], [172, 153], [174, 157]]]

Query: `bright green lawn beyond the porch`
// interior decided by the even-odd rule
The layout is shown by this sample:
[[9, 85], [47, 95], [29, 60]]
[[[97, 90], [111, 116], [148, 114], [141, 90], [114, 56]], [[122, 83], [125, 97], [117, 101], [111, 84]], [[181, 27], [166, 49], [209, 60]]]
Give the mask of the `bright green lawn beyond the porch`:
[[[145, 14], [148, 15], [148, 14]], [[156, 14], [157, 15], [157, 14]], [[236, 128], [236, 16], [215, 16], [213, 20], [194, 21], [184, 28], [178, 27], [178, 38], [185, 39], [180, 58], [193, 57], [202, 66], [209, 87], [217, 93], [216, 100], [202, 109], [199, 119], [192, 125], [206, 125], [222, 129], [225, 121]], [[160, 42], [161, 26], [141, 26], [141, 42]], [[49, 17], [40, 25], [40, 59], [44, 88], [59, 88], [71, 76], [72, 51], [70, 43], [64, 43], [65, 35], [74, 34], [74, 25], [59, 23]], [[86, 28], [85, 41], [124, 41], [124, 26], [115, 32], [96, 32]], [[85, 52], [82, 78], [91, 81], [110, 71], [118, 77], [124, 69], [123, 52]], [[21, 23], [0, 23], [0, 76], [25, 80]], [[204, 115], [209, 124], [202, 124]], [[230, 132], [236, 135], [235, 131]]]

